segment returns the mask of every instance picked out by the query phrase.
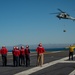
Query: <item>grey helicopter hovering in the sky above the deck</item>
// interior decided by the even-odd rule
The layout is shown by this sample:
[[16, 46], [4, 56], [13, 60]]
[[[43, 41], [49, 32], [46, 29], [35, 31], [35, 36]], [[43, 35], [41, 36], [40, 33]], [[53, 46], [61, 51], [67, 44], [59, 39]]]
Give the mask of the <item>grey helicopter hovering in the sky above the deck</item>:
[[60, 12], [58, 13], [51, 13], [51, 14], [57, 14], [56, 17], [59, 18], [59, 19], [70, 19], [70, 20], [75, 20], [74, 17], [70, 16], [69, 14], [67, 14], [66, 12], [58, 9]]

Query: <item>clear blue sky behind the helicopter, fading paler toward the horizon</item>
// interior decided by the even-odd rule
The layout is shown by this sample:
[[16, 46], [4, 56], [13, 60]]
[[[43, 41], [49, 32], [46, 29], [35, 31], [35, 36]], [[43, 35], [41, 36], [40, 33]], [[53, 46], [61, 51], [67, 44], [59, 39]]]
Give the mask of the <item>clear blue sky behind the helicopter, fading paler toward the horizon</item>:
[[[75, 0], [0, 0], [0, 46], [75, 43]], [[66, 32], [63, 32], [66, 30]]]

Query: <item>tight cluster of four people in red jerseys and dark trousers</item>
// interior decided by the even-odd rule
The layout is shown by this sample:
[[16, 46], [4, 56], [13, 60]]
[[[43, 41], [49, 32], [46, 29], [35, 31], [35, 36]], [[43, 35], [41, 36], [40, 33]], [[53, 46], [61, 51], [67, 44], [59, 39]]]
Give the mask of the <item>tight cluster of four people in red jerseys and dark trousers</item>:
[[28, 45], [25, 49], [24, 46], [21, 46], [21, 49], [19, 49], [18, 47], [14, 47], [12, 54], [14, 66], [20, 66], [25, 64], [26, 67], [30, 66], [30, 49]]

